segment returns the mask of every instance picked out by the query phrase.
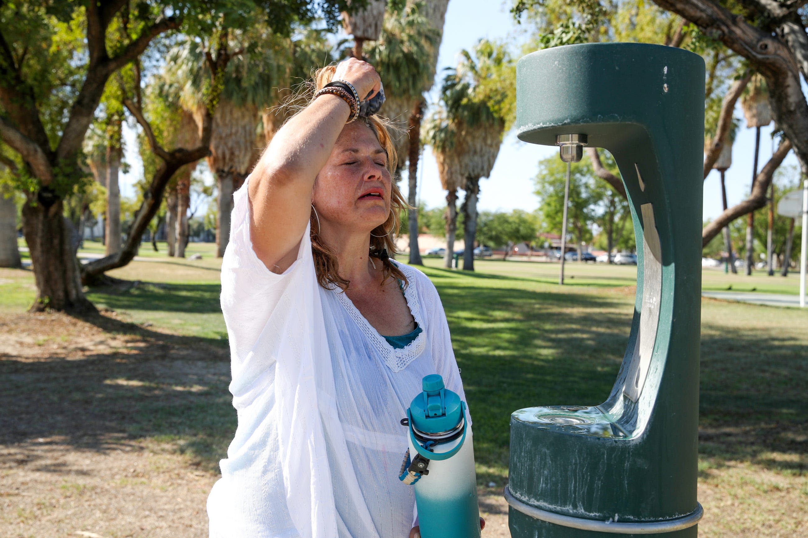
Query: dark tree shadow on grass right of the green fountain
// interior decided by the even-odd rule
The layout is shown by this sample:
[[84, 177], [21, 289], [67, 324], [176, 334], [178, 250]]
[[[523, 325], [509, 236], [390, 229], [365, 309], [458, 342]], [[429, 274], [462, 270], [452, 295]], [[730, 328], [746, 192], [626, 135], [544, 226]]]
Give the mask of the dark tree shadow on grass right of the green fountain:
[[770, 330], [705, 324], [699, 452], [808, 472], [808, 346]]

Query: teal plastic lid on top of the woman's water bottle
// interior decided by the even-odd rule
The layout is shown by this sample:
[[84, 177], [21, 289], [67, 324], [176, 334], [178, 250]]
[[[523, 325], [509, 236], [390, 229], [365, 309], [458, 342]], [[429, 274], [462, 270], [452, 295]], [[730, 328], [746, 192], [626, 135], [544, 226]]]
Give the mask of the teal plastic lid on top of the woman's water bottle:
[[457, 427], [463, 419], [461, 400], [444, 386], [444, 378], [438, 374], [425, 376], [423, 393], [410, 404], [410, 415], [415, 429], [424, 433], [440, 433]]

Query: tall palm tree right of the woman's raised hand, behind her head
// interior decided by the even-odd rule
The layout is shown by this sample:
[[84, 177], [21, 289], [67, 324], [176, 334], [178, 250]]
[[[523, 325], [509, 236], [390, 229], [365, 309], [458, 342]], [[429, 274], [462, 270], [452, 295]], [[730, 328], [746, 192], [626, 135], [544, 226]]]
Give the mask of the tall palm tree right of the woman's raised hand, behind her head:
[[[378, 69], [385, 86], [387, 100], [382, 108], [398, 131], [393, 132], [393, 141], [398, 153], [397, 178], [404, 165], [404, 156], [409, 162], [409, 193], [407, 202], [414, 208], [418, 205], [418, 159], [421, 119], [423, 117], [423, 92], [429, 90], [435, 77], [431, 61], [440, 45], [440, 32], [429, 19], [421, 15], [422, 2], [407, 6], [401, 11], [391, 11], [379, 40], [368, 49], [368, 61]], [[410, 234], [410, 264], [422, 265], [418, 246], [418, 212], [408, 211]]]

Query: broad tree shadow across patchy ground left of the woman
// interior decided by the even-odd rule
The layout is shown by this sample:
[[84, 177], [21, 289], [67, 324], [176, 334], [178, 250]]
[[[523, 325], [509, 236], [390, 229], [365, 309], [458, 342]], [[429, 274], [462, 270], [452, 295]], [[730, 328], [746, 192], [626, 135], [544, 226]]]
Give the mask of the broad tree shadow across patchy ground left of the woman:
[[[158, 443], [216, 469], [236, 426], [227, 351], [209, 338], [162, 334], [100, 314], [75, 320], [82, 322], [103, 329], [114, 346], [80, 357], [56, 351], [45, 360], [0, 354], [0, 444], [23, 449], [44, 439], [38, 446], [109, 452]], [[36, 468], [37, 451], [24, 453]], [[0, 467], [13, 464], [4, 459], [15, 454], [4, 452]]]

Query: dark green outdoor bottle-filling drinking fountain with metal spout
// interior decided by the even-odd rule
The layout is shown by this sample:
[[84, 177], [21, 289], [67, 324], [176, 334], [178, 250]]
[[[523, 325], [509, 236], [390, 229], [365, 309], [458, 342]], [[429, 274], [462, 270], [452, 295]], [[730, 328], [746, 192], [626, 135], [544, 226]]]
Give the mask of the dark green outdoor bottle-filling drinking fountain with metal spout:
[[628, 347], [600, 406], [511, 415], [514, 538], [695, 538], [705, 64], [680, 48], [576, 44], [516, 68], [520, 140], [607, 149], [638, 246]]

